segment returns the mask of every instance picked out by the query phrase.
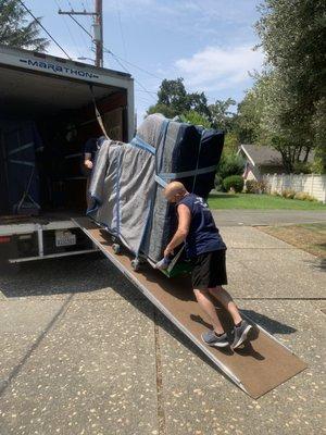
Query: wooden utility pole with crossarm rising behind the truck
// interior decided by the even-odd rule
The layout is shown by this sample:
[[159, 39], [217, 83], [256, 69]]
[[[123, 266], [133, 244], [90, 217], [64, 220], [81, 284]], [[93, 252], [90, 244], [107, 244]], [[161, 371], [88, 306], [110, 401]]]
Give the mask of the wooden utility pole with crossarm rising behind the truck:
[[103, 4], [102, 0], [95, 0], [95, 12], [84, 11], [62, 11], [61, 9], [58, 11], [60, 15], [68, 15], [79, 27], [82, 27], [89, 36], [91, 36], [85, 27], [83, 27], [78, 21], [74, 17], [74, 15], [90, 15], [95, 17], [95, 23], [92, 25], [93, 35], [92, 41], [96, 46], [96, 66], [103, 66]]

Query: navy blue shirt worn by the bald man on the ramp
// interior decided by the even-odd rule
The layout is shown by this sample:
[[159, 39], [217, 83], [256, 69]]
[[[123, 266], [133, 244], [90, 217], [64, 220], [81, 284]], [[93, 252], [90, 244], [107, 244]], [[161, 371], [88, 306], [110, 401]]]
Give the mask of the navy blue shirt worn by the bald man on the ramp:
[[209, 206], [202, 198], [189, 194], [177, 202], [177, 207], [180, 204], [187, 206], [191, 213], [190, 228], [186, 238], [186, 253], [189, 258], [226, 249]]

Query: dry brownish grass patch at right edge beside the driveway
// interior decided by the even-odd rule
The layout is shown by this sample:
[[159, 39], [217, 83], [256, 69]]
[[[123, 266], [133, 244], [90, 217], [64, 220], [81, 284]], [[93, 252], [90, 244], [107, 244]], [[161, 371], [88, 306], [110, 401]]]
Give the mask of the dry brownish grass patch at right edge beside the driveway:
[[326, 224], [261, 226], [260, 229], [306, 252], [326, 259]]

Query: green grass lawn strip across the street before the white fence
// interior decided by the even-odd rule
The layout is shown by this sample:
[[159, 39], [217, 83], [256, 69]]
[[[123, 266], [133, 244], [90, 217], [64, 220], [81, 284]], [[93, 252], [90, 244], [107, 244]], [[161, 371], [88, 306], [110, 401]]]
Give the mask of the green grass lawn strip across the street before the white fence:
[[211, 209], [265, 209], [265, 210], [324, 210], [326, 206], [317, 201], [285, 199], [272, 195], [254, 194], [212, 194], [209, 197]]

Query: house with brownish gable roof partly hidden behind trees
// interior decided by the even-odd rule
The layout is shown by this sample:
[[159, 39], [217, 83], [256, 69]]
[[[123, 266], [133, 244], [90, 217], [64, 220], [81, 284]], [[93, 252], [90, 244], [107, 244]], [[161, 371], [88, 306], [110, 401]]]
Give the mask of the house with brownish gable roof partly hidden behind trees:
[[281, 174], [281, 154], [274, 148], [256, 145], [241, 145], [238, 151], [244, 161], [243, 178], [261, 181], [265, 174]]

